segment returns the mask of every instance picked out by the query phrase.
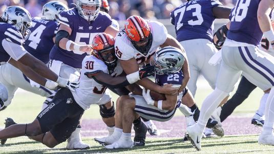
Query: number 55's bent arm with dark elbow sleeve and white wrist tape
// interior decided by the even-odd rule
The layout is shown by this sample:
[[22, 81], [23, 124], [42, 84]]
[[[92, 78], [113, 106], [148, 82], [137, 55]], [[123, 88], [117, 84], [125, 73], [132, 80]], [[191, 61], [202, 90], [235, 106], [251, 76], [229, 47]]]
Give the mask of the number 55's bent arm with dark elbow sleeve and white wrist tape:
[[90, 53], [92, 51], [91, 46], [89, 45], [79, 45], [71, 40], [69, 40], [69, 36], [71, 35], [72, 29], [69, 26], [64, 24], [60, 24], [60, 27], [55, 36], [55, 45], [59, 48], [68, 51], [82, 51]]

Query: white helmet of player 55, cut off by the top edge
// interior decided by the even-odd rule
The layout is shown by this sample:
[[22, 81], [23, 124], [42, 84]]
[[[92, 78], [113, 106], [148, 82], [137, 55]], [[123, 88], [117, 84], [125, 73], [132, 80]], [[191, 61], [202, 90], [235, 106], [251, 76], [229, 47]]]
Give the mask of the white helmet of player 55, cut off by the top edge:
[[[79, 15], [81, 15], [83, 18], [90, 22], [94, 21], [95, 18], [98, 16], [101, 6], [101, 0], [77, 0], [76, 6]], [[83, 6], [93, 6], [95, 7], [95, 10], [91, 11], [83, 9]]]

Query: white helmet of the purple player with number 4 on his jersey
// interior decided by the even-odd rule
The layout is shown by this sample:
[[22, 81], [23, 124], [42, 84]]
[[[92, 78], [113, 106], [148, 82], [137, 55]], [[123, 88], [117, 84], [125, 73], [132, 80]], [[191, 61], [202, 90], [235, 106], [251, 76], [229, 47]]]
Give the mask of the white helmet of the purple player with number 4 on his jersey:
[[45, 20], [52, 20], [52, 21], [55, 20], [58, 22], [59, 13], [67, 9], [68, 7], [64, 3], [61, 3], [58, 1], [48, 2], [43, 6], [43, 10], [42, 10], [43, 17], [41, 18]]

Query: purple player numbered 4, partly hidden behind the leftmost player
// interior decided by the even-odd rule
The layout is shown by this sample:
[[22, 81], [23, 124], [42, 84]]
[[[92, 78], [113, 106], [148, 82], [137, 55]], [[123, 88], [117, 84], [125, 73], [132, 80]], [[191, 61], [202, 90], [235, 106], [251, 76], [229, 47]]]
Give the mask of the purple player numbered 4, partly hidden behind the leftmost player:
[[[31, 34], [23, 44], [23, 47], [31, 55], [44, 62], [46, 65], [49, 62], [50, 50], [54, 45], [55, 34], [58, 27], [58, 14], [65, 9], [67, 9], [67, 6], [57, 1], [45, 4], [43, 6], [43, 16], [32, 18], [32, 27], [29, 28]], [[47, 97], [47, 100], [43, 104], [44, 107], [46, 107], [53, 98], [54, 91], [32, 82], [25, 74], [12, 65], [2, 65], [0, 66], [0, 71], [9, 72], [0, 74], [0, 82], [7, 87], [9, 94], [8, 100], [4, 102], [4, 106], [2, 106], [0, 110], [3, 110], [10, 105], [15, 91], [18, 88]], [[50, 95], [51, 97], [49, 97]]]

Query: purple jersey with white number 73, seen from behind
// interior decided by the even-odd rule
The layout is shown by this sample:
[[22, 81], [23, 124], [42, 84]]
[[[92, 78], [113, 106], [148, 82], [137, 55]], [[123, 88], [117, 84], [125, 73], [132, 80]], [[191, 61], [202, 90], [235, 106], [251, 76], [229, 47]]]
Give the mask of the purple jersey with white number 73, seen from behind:
[[177, 40], [204, 38], [212, 42], [215, 16], [212, 8], [222, 5], [214, 0], [196, 0], [183, 3], [171, 12]]

